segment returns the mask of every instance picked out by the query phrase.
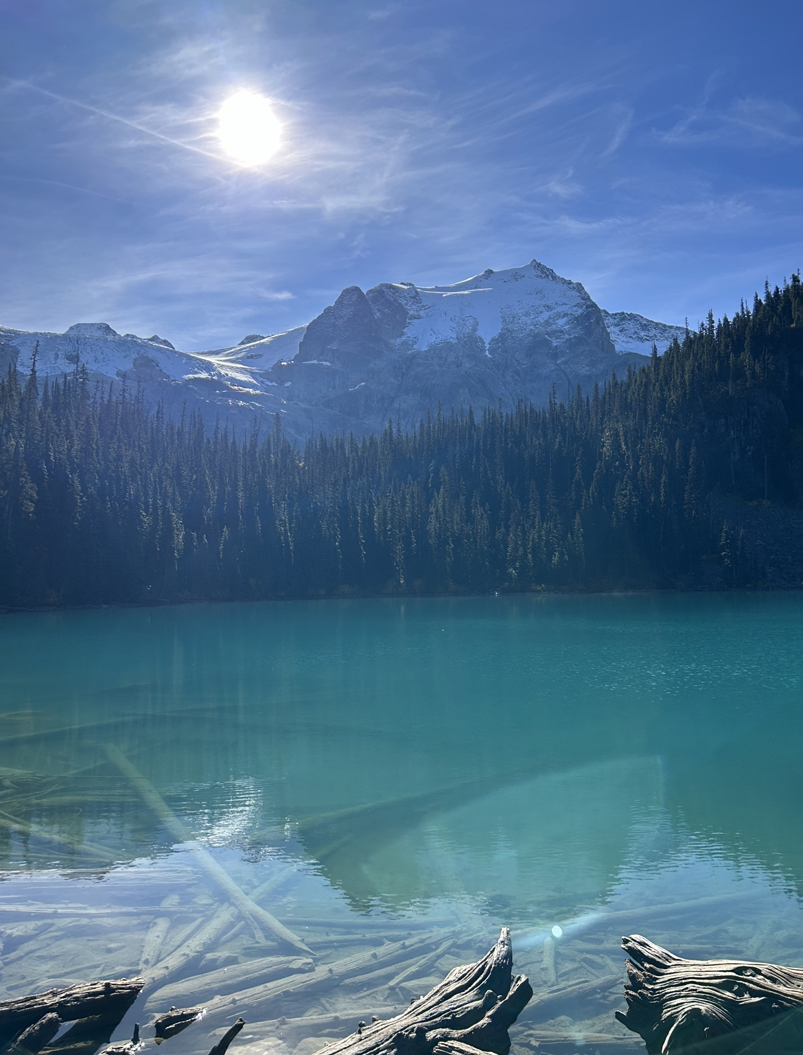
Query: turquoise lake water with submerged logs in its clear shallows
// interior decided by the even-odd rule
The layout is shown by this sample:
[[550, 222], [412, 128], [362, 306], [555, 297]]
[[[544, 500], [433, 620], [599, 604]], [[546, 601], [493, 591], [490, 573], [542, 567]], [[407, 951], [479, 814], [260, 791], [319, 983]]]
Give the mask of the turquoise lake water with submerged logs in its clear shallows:
[[520, 1051], [643, 1050], [613, 1019], [623, 934], [803, 966], [801, 595], [12, 615], [0, 685], [2, 999], [148, 975], [223, 920], [115, 1033], [200, 1002], [170, 1051], [208, 1051], [222, 993], [287, 950], [223, 925], [193, 840], [316, 964], [377, 954], [244, 1000], [243, 1055], [396, 1014], [503, 925], [554, 997]]

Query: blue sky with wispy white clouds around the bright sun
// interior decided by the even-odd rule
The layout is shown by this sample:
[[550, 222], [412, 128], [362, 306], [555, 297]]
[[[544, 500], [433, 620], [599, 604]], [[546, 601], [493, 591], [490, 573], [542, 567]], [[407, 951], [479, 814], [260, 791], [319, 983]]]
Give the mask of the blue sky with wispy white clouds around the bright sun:
[[[0, 0], [0, 323], [186, 350], [537, 257], [691, 324], [803, 265], [803, 5]], [[265, 94], [257, 169], [215, 115]]]

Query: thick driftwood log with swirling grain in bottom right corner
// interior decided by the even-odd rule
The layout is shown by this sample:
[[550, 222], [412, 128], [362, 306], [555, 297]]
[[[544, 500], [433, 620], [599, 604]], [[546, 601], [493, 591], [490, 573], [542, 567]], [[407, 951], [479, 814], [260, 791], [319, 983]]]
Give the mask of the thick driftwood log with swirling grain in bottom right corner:
[[803, 971], [739, 960], [686, 960], [641, 935], [616, 1018], [649, 1055], [784, 1055], [803, 1051]]

